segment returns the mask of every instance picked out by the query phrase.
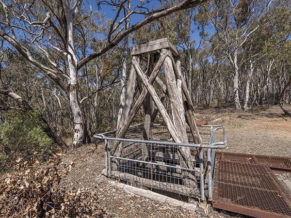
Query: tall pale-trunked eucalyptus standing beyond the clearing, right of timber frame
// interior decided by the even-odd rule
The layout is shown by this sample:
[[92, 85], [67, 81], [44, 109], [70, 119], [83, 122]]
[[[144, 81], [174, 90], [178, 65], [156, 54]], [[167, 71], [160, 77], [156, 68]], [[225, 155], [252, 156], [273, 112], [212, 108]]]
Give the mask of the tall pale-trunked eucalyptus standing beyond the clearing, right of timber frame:
[[[262, 17], [272, 6], [272, 0], [221, 0], [210, 1], [208, 7], [199, 8], [200, 20], [214, 30], [208, 40], [226, 57], [233, 68], [233, 95], [236, 109], [241, 109], [239, 72], [247, 56], [243, 46], [265, 22]], [[205, 22], [205, 19], [207, 22]], [[241, 55], [240, 59], [239, 56]]]

